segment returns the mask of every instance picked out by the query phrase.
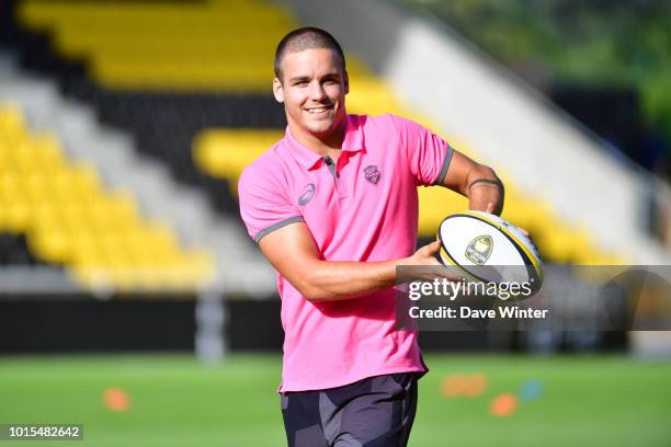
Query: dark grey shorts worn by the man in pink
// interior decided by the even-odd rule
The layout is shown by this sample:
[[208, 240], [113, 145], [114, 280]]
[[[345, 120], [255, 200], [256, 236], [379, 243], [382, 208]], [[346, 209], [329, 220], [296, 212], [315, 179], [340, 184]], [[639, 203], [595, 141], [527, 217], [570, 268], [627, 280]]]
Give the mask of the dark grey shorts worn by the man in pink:
[[327, 390], [283, 392], [289, 447], [406, 446], [419, 377], [393, 374]]

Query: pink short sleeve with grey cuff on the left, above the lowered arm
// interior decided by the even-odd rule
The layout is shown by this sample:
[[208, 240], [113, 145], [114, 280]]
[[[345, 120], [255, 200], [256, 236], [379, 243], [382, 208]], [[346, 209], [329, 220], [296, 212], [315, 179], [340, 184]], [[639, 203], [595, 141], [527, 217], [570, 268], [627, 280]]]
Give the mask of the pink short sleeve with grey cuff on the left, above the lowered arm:
[[249, 236], [258, 243], [264, 236], [303, 221], [286, 192], [270, 175], [254, 167], [247, 168], [238, 182], [240, 216]]

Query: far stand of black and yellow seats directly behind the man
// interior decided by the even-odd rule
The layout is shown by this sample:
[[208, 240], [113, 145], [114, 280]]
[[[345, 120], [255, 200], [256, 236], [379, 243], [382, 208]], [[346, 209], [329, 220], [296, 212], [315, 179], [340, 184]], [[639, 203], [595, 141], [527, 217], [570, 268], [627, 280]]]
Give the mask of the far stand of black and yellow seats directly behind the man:
[[[130, 130], [140, 150], [163, 160], [178, 179], [207, 191], [220, 211], [236, 211], [241, 170], [285, 125], [282, 107], [270, 95], [272, 49], [297, 25], [285, 10], [241, 0], [26, 0], [16, 16], [32, 30], [19, 33], [19, 45], [32, 54], [24, 57], [25, 65], [58, 73], [65, 91], [95, 103], [104, 122]], [[50, 41], [34, 33], [48, 33]], [[88, 77], [77, 62], [82, 60]], [[431, 126], [403, 107], [355, 55], [348, 55], [348, 64], [350, 112], [397, 113]], [[455, 147], [479, 159], [468, 145]], [[503, 180], [503, 217], [528, 228], [544, 257], [622, 262], [595, 247], [550, 204], [521, 191], [512, 179]], [[463, 197], [435, 188], [421, 188], [420, 203], [424, 238], [433, 237], [446, 214], [467, 208]]]

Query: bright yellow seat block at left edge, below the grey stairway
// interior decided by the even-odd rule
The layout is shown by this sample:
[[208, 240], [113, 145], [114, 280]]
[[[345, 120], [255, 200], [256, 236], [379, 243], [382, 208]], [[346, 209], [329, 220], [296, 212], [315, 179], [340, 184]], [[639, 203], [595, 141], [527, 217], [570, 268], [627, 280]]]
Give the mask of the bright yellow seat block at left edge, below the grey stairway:
[[0, 105], [0, 232], [25, 234], [35, 257], [83, 285], [170, 290], [213, 273], [206, 251], [184, 250], [166, 224], [144, 219], [132, 196], [106, 191], [92, 167], [70, 162], [54, 135], [32, 133], [9, 104]]

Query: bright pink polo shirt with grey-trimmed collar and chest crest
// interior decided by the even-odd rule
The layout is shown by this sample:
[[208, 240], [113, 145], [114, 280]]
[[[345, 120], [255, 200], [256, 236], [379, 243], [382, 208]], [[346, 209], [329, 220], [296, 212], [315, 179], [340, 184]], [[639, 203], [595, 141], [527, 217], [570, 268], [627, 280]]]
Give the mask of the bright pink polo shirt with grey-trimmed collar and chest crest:
[[[452, 149], [394, 115], [349, 115], [338, 164], [289, 134], [247, 167], [240, 214], [258, 242], [304, 221], [327, 261], [388, 261], [414, 252], [418, 185], [442, 183]], [[291, 253], [287, 253], [291, 256]], [[425, 371], [417, 333], [396, 330], [395, 290], [310, 302], [277, 274], [284, 362], [281, 391], [340, 387]]]

